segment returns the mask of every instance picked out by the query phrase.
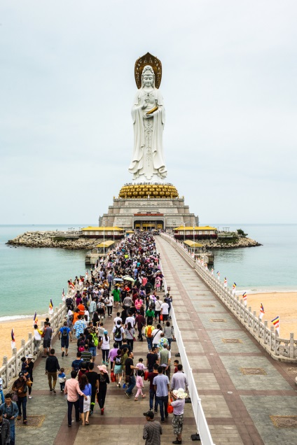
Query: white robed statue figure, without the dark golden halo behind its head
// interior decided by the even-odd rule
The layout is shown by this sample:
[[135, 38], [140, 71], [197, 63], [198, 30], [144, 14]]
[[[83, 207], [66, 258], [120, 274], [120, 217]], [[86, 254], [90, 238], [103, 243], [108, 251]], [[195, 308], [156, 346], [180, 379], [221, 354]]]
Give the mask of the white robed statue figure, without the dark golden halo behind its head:
[[141, 87], [132, 106], [132, 120], [134, 150], [129, 171], [133, 174], [133, 180], [137, 180], [137, 183], [160, 182], [167, 176], [163, 157], [165, 109], [150, 65], [144, 66], [141, 74]]

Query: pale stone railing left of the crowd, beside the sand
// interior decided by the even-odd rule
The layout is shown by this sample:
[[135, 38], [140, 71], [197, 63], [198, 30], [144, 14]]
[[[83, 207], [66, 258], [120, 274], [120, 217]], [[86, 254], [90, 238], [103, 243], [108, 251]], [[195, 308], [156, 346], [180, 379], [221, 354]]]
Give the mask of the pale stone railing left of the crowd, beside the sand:
[[[66, 316], [66, 306], [65, 303], [62, 302], [59, 304], [59, 307], [55, 308], [53, 315], [49, 316], [50, 318], [50, 326], [53, 327], [53, 337], [57, 335], [59, 328], [63, 325], [65, 316]], [[41, 322], [41, 327], [43, 327], [43, 321]], [[33, 354], [34, 352], [34, 337], [32, 332], [29, 332], [28, 341], [22, 339], [21, 347], [17, 351], [17, 348], [13, 348], [13, 356], [8, 359], [6, 355], [4, 355], [2, 366], [0, 367], [0, 377], [3, 379], [3, 388], [4, 390], [11, 387], [13, 381], [18, 379], [18, 373], [22, 368], [21, 358], [25, 357], [28, 354]], [[41, 341], [41, 345], [39, 346], [39, 351], [37, 351], [37, 358], [39, 355], [43, 353], [43, 341]]]

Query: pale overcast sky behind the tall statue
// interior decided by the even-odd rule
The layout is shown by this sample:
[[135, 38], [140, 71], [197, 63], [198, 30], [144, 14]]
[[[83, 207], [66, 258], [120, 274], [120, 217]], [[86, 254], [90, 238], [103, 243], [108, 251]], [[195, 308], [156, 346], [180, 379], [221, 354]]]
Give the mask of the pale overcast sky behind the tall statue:
[[203, 224], [296, 223], [296, 0], [2, 0], [0, 223], [97, 223], [163, 64], [168, 182]]

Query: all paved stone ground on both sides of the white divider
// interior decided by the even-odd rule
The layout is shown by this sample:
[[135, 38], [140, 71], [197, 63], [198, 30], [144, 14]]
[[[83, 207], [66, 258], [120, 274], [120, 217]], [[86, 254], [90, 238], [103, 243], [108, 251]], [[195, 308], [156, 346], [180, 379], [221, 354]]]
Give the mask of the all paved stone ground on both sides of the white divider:
[[[198, 393], [212, 433], [212, 439], [219, 444], [267, 444], [296, 445], [296, 428], [277, 428], [270, 416], [294, 416], [297, 414], [297, 400], [294, 385], [296, 367], [277, 363], [263, 352], [254, 339], [244, 330], [235, 317], [216, 299], [202, 283], [196, 272], [170, 246], [157, 237], [163, 269], [174, 298], [174, 309], [186, 352], [193, 368]], [[211, 305], [211, 307], [209, 307]], [[113, 316], [116, 316], [113, 309]], [[212, 321], [223, 318], [224, 322]], [[112, 319], [105, 326], [111, 330]], [[223, 339], [240, 339], [241, 343], [226, 344]], [[69, 348], [69, 356], [61, 358], [60, 341], [54, 347], [60, 366], [68, 368], [76, 355], [75, 344]], [[101, 363], [98, 351], [95, 365]], [[172, 355], [177, 345], [172, 344]], [[134, 344], [134, 362], [145, 358], [146, 341]], [[81, 445], [83, 442], [108, 442], [118, 445], [144, 444], [142, 439], [145, 422], [142, 413], [148, 409], [148, 383], [145, 383], [144, 400], [123, 394], [123, 388], [111, 383], [107, 390], [104, 416], [95, 414], [90, 426], [83, 427], [75, 422], [67, 426], [67, 400], [57, 391], [48, 390], [44, 373], [45, 360], [39, 358], [34, 367], [33, 398], [27, 402], [28, 426], [16, 428], [17, 444], [26, 445]], [[265, 375], [244, 375], [241, 368], [259, 367]], [[292, 372], [293, 368], [293, 372]], [[291, 369], [291, 373], [288, 371]], [[195, 433], [195, 420], [191, 404], [186, 404], [183, 444], [190, 444]], [[39, 417], [30, 417], [39, 416]], [[74, 414], [73, 414], [74, 417]], [[171, 444], [171, 418], [163, 424], [162, 444]], [[160, 420], [160, 416], [156, 416]], [[286, 425], [291, 421], [286, 421]], [[30, 424], [39, 426], [29, 426]], [[199, 442], [198, 442], [199, 443]]]

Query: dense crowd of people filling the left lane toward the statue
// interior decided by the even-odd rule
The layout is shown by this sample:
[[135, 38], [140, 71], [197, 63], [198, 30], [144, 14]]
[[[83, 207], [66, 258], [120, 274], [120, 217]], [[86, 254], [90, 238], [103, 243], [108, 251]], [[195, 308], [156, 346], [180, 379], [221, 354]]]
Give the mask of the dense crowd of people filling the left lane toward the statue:
[[[172, 443], [181, 444], [188, 381], [178, 360], [174, 360], [171, 372], [171, 346], [175, 340], [170, 323], [172, 297], [163, 291], [164, 276], [153, 236], [149, 232], [136, 232], [120, 241], [90, 274], [69, 280], [68, 284], [67, 320], [58, 334], [62, 358], [69, 353], [69, 343], [76, 342], [71, 378], [67, 379], [51, 345], [50, 320], [46, 320], [43, 330], [34, 326], [34, 353], [42, 341], [49, 390], [55, 395], [58, 381], [60, 392], [67, 396], [69, 428], [73, 407], [75, 421], [85, 426], [91, 423], [96, 402], [103, 416], [107, 388], [113, 384], [123, 388], [123, 397], [133, 397], [134, 402], [148, 395], [143, 435], [147, 445], [160, 443], [160, 423], [165, 423], [168, 411], [173, 411], [176, 438]], [[111, 323], [106, 323], [110, 318]], [[144, 358], [136, 363], [133, 349], [137, 340], [141, 342]], [[95, 365], [97, 354], [102, 355], [99, 366]], [[13, 385], [13, 395], [6, 395], [0, 407], [10, 426], [11, 444], [14, 444], [14, 419], [22, 416], [23, 423], [27, 423], [33, 358], [34, 355], [25, 358], [24, 368]], [[149, 383], [148, 394], [144, 381]], [[16, 403], [14, 397], [18, 399]], [[155, 420], [158, 412], [160, 423]]]

